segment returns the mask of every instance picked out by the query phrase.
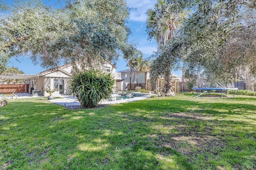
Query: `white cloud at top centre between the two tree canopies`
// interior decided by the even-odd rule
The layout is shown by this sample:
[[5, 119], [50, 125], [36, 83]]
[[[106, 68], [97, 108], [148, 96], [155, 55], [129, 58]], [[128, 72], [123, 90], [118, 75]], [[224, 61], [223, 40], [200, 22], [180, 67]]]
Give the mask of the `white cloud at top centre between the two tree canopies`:
[[146, 11], [149, 8], [153, 8], [157, 0], [126, 0], [127, 6], [130, 8], [136, 8], [130, 10], [131, 21], [146, 21]]

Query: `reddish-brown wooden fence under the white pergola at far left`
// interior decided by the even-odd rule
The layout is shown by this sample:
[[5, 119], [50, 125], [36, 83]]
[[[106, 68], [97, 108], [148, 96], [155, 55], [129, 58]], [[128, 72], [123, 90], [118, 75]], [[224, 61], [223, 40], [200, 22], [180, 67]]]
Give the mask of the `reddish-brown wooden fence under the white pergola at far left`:
[[25, 93], [25, 84], [0, 84], [0, 93]]

